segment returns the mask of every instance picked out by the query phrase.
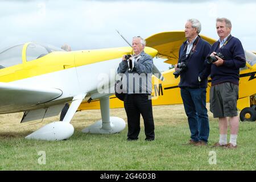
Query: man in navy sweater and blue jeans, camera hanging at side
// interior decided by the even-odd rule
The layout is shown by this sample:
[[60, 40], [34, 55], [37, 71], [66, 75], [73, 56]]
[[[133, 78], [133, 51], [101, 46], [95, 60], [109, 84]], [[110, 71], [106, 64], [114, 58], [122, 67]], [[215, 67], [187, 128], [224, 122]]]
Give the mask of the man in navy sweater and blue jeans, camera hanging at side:
[[[201, 23], [197, 19], [188, 19], [185, 24], [185, 38], [181, 45], [179, 61], [175, 71], [180, 73], [180, 93], [183, 100], [191, 139], [188, 144], [206, 145], [209, 137], [209, 119], [206, 108], [207, 77], [199, 81], [199, 73], [204, 69], [204, 61], [210, 52], [210, 44], [199, 33]], [[185, 64], [185, 69], [181, 64]], [[178, 65], [178, 66], [177, 66]], [[175, 76], [177, 77], [177, 76]]]

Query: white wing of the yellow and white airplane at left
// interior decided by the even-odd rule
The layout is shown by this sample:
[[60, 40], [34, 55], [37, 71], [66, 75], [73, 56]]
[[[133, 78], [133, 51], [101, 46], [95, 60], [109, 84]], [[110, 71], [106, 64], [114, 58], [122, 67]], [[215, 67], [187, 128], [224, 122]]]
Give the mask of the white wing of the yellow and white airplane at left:
[[54, 88], [33, 88], [0, 82], [0, 114], [24, 111], [26, 108], [43, 104], [62, 95]]

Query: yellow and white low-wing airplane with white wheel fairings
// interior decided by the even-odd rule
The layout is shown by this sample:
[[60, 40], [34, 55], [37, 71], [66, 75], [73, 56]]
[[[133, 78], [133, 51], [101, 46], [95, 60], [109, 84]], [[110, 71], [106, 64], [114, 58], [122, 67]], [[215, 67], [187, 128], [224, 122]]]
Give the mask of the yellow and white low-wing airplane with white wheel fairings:
[[[152, 57], [157, 53], [144, 50]], [[70, 122], [81, 102], [98, 99], [102, 120], [83, 132], [118, 133], [125, 121], [110, 117], [109, 96], [121, 57], [127, 54], [131, 47], [66, 52], [30, 42], [5, 48], [0, 51], [0, 114], [24, 111], [21, 122], [28, 122], [57, 115], [69, 102], [63, 122], [49, 123], [26, 137], [61, 140], [73, 134]]]

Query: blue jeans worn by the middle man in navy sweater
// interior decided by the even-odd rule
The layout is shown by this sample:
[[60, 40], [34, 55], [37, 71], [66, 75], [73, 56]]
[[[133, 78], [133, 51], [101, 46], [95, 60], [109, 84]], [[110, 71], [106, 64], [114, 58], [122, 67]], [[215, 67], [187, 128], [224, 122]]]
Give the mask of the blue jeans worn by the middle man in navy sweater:
[[206, 107], [206, 88], [181, 88], [180, 93], [188, 117], [191, 139], [195, 142], [199, 140], [208, 142], [210, 129]]

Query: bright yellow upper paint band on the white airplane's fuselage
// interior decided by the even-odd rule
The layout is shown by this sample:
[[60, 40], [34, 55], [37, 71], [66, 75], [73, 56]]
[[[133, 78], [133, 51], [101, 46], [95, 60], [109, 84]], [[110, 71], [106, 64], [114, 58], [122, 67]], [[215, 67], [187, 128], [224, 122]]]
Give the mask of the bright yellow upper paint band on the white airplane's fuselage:
[[[119, 47], [108, 49], [95, 49], [85, 51], [56, 51], [48, 53], [39, 59], [27, 61], [26, 49], [29, 43], [24, 44], [22, 51], [22, 64], [0, 69], [0, 82], [10, 82], [22, 80], [35, 76], [61, 71], [63, 69], [80, 67], [99, 63], [101, 61], [121, 58], [125, 54], [131, 53], [131, 47]], [[150, 47], [145, 47], [145, 52], [154, 57], [157, 51]]]

